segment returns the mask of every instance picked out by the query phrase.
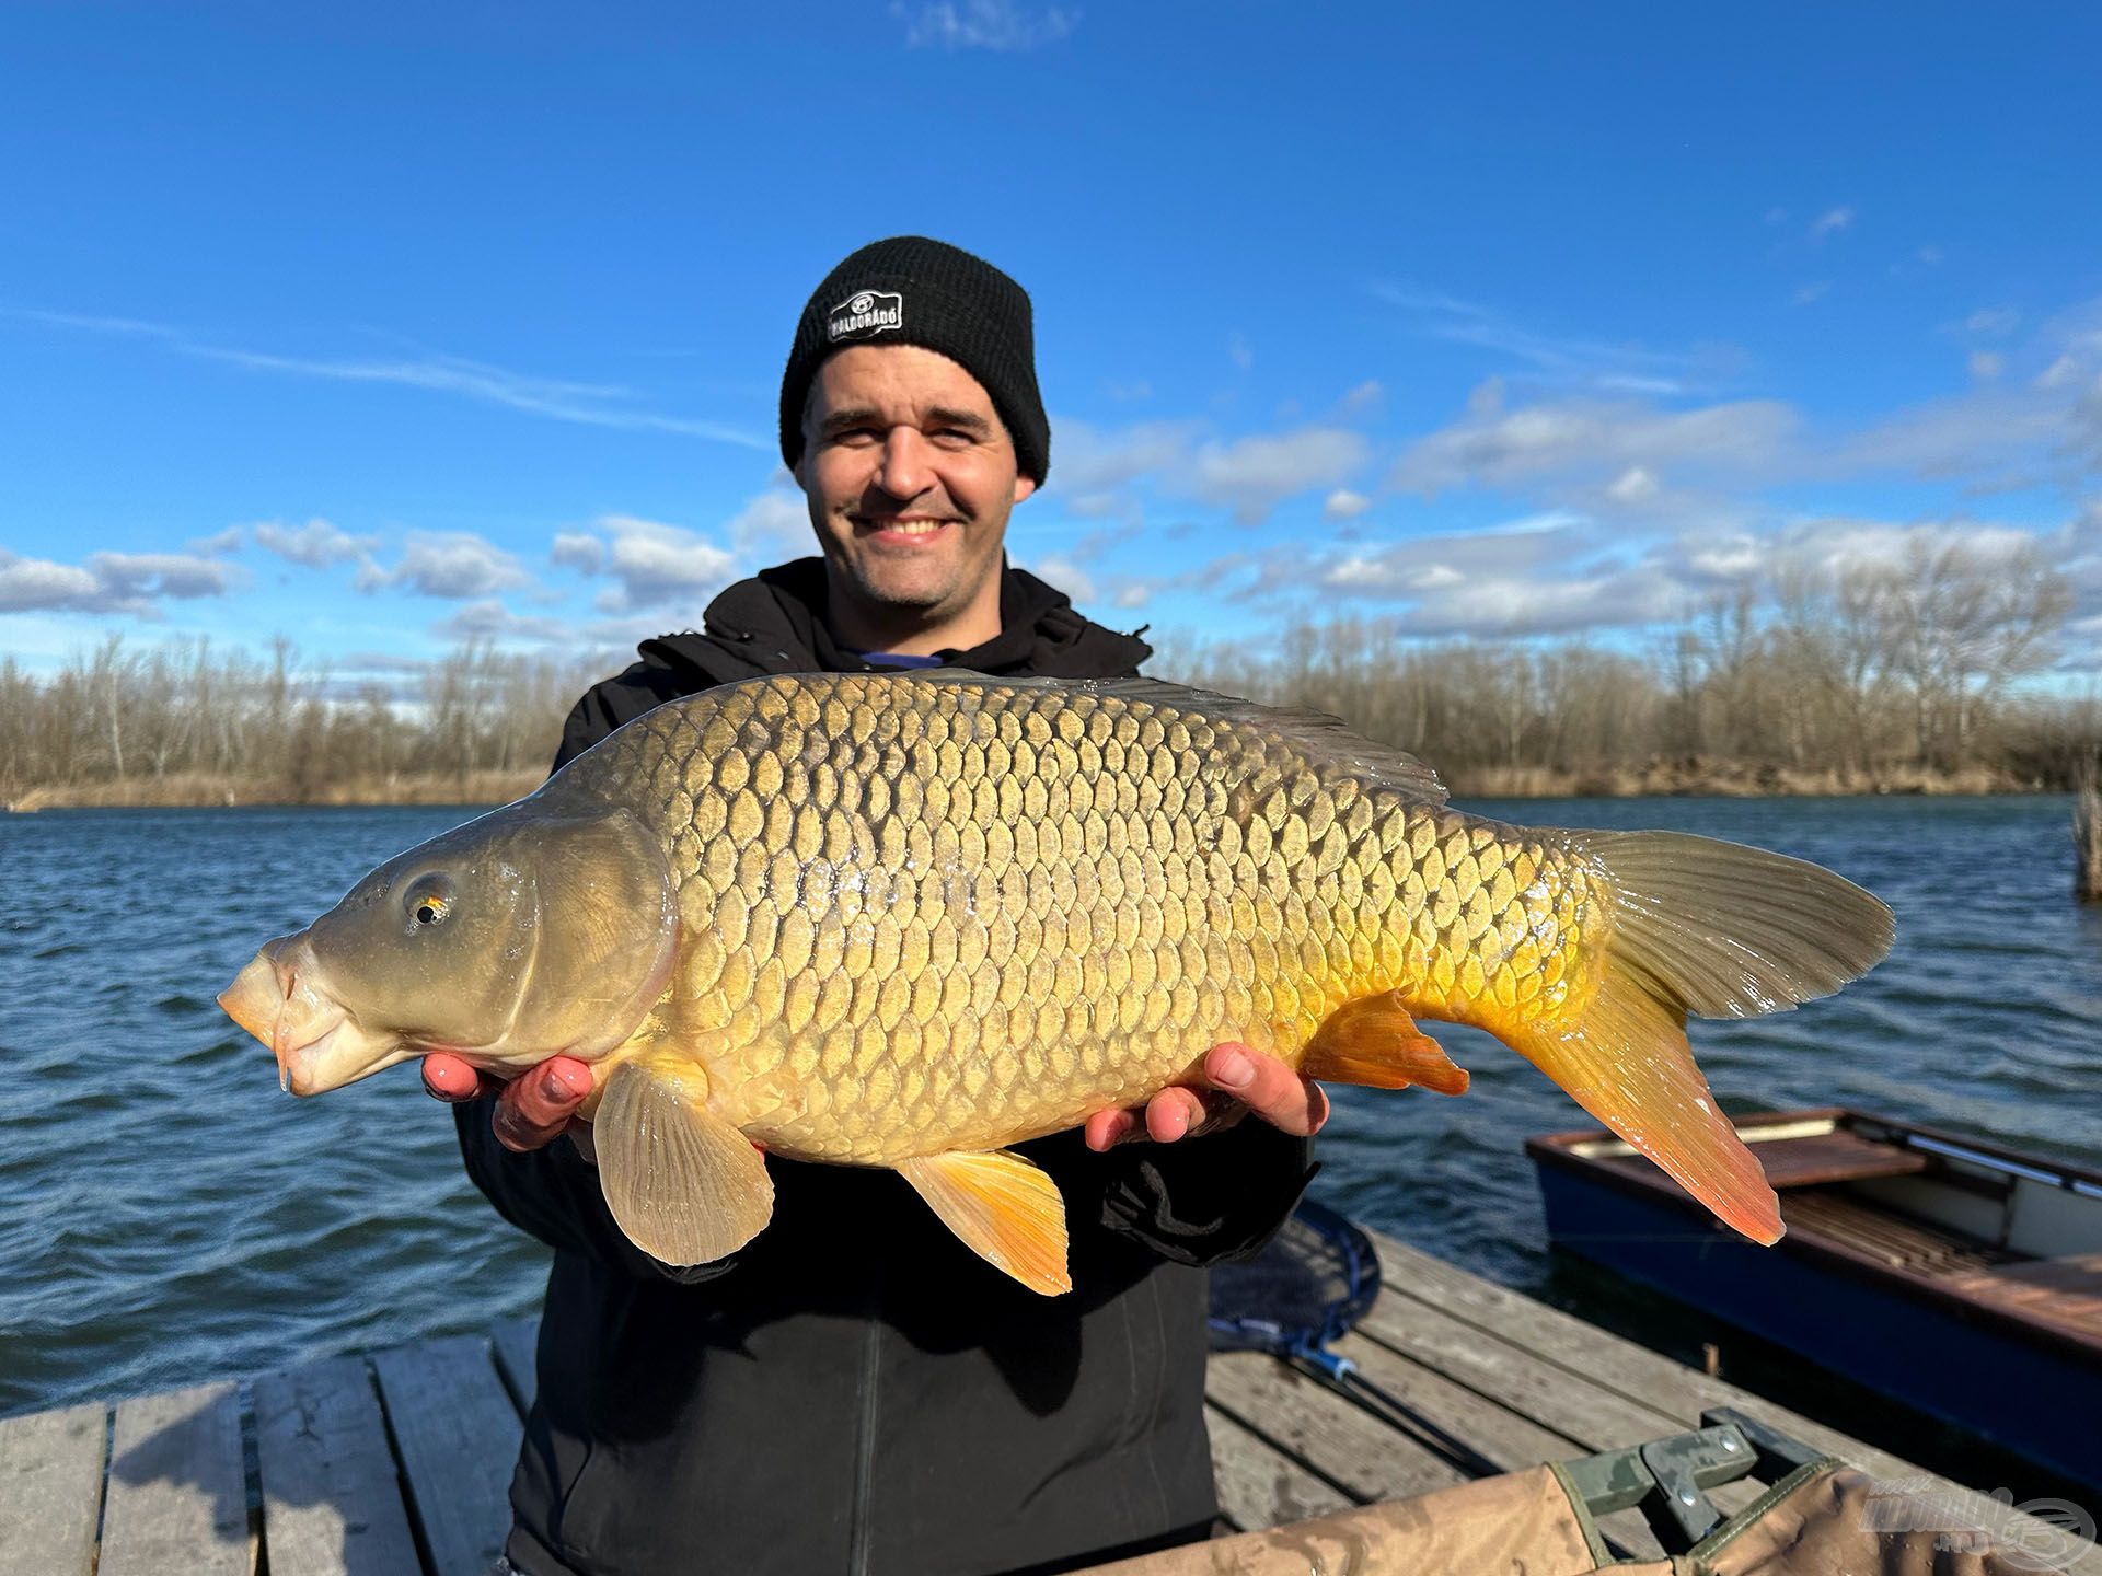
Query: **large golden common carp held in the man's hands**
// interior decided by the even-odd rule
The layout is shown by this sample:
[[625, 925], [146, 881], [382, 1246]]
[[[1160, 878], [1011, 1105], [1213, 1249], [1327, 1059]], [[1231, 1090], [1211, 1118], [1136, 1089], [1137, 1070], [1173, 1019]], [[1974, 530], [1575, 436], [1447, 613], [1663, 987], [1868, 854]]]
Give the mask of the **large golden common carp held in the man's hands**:
[[595, 1061], [605, 1200], [668, 1263], [767, 1223], [763, 1147], [891, 1166], [1059, 1292], [1064, 1204], [1005, 1145], [1190, 1080], [1219, 1040], [1459, 1093], [1415, 1017], [1488, 1030], [1774, 1242], [1686, 1015], [1825, 996], [1890, 939], [1818, 866], [1463, 815], [1316, 712], [1150, 679], [803, 675], [628, 723], [383, 864], [221, 1004], [301, 1095], [429, 1051]]

